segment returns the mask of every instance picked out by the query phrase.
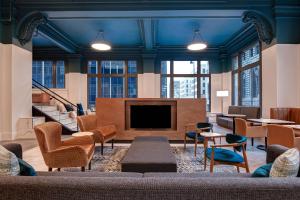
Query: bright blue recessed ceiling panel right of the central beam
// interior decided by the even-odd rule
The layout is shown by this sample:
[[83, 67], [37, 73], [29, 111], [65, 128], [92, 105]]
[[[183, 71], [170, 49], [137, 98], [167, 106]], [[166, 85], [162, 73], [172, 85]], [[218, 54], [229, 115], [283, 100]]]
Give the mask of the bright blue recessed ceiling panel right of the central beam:
[[218, 47], [244, 26], [239, 18], [162, 19], [157, 24], [157, 43], [161, 46], [185, 46], [199, 29], [210, 47]]

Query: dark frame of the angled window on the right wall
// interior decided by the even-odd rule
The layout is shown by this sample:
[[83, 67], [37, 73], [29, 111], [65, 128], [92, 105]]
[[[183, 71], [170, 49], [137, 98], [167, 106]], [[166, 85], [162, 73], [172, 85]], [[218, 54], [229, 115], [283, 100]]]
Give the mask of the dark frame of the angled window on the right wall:
[[[258, 49], [259, 49], [259, 60], [254, 62], [254, 63], [251, 63], [251, 64], [248, 64], [248, 65], [245, 65], [245, 66], [242, 66], [242, 59], [243, 59], [243, 52], [248, 49], [249, 47], [253, 46], [254, 44], [258, 43]], [[253, 49], [252, 49], [253, 51]], [[256, 48], [255, 48], [255, 51], [256, 51]], [[237, 69], [234, 69], [233, 68], [233, 63], [232, 63], [232, 60], [234, 57], [237, 57], [238, 58], [238, 67]], [[231, 95], [231, 102], [234, 102], [234, 95], [235, 95], [235, 90], [234, 90], [234, 75], [237, 73], [237, 77], [238, 77], [238, 102], [237, 102], [237, 105], [238, 106], [242, 106], [242, 95], [241, 95], [241, 92], [242, 92], [242, 83], [241, 83], [241, 76], [242, 76], [242, 72], [246, 71], [246, 70], [249, 70], [249, 69], [253, 69], [255, 67], [259, 67], [259, 106], [262, 107], [262, 45], [261, 45], [261, 42], [260, 41], [255, 41], [255, 42], [252, 42], [250, 43], [249, 45], [243, 47], [242, 49], [240, 49], [238, 52], [232, 54], [231, 56], [231, 89], [232, 89], [232, 95]], [[234, 102], [236, 103], [236, 102]], [[235, 104], [236, 105], [236, 104]], [[255, 107], [255, 106], [253, 106]]]

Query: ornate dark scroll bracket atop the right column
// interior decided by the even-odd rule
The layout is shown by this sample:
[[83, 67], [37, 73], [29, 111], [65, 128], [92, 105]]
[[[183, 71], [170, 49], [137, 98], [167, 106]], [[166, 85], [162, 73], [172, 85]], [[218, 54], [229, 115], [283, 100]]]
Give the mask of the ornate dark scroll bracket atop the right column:
[[263, 15], [254, 11], [246, 11], [243, 13], [243, 22], [253, 24], [259, 40], [266, 44], [271, 44], [274, 37], [272, 25]]

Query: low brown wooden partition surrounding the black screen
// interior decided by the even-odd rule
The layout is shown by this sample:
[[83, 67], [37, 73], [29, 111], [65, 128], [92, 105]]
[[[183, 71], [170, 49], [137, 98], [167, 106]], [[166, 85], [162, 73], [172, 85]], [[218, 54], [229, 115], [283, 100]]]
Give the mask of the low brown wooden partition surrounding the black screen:
[[[125, 101], [177, 101], [177, 130], [125, 130]], [[184, 125], [187, 123], [204, 122], [206, 119], [205, 99], [128, 99], [128, 98], [97, 98], [96, 115], [98, 125], [115, 124], [118, 135], [116, 140], [133, 140], [136, 136], [167, 136], [169, 140], [182, 140]]]

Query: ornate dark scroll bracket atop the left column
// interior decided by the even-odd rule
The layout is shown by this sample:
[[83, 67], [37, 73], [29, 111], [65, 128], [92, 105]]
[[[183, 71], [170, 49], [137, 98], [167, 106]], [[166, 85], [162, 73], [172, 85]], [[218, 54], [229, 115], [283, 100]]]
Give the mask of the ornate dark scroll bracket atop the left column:
[[34, 30], [41, 24], [46, 24], [47, 18], [40, 12], [32, 12], [21, 19], [17, 26], [17, 38], [25, 45], [32, 38]]

